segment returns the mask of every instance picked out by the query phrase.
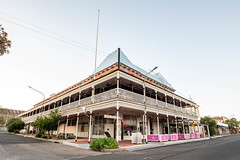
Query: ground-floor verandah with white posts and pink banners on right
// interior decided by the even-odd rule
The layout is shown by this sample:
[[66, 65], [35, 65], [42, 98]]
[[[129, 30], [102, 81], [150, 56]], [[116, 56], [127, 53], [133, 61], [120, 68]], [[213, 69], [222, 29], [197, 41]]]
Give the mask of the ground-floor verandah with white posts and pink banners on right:
[[[117, 130], [119, 141], [132, 140], [132, 135], [137, 132], [140, 132], [141, 138], [147, 139], [147, 141], [168, 141], [200, 138], [199, 136], [205, 137], [204, 127], [198, 126], [196, 121], [188, 121], [187, 119], [179, 117], [167, 117], [166, 115], [157, 115], [153, 113], [147, 113], [145, 129], [147, 136], [142, 136], [144, 132], [143, 111], [120, 107], [118, 126], [116, 111], [116, 108], [109, 108], [107, 110], [98, 110], [92, 113], [91, 138], [106, 137], [106, 132], [108, 132], [111, 137], [117, 139]], [[89, 117], [80, 114], [78, 127], [76, 127], [76, 125], [76, 114], [69, 116], [68, 122], [67, 117], [62, 117], [58, 129], [58, 136], [68, 133], [75, 136], [77, 135], [76, 138], [89, 138]]]

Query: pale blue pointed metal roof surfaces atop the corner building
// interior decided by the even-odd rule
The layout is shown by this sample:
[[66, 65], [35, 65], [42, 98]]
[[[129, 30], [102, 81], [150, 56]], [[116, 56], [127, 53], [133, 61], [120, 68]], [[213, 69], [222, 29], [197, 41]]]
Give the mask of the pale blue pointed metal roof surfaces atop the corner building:
[[[118, 55], [118, 51], [120, 51], [120, 56]], [[96, 73], [117, 63], [118, 62], [118, 57], [120, 57], [120, 63], [142, 73], [143, 75], [147, 74], [148, 72], [141, 69], [140, 67], [134, 65], [128, 58], [127, 56], [120, 50], [117, 49], [110, 53], [103, 61], [102, 63], [97, 67]], [[148, 77], [175, 90], [170, 83], [167, 82], [167, 80], [160, 74], [160, 73], [155, 73], [155, 74], [148, 74]]]

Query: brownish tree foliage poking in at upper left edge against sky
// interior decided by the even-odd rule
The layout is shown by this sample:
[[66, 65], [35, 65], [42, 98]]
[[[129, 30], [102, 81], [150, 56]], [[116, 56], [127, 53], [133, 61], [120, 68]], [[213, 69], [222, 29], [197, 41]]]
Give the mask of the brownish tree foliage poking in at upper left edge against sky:
[[0, 25], [0, 56], [9, 53], [9, 48], [12, 42], [7, 38], [8, 34], [4, 31], [2, 25]]

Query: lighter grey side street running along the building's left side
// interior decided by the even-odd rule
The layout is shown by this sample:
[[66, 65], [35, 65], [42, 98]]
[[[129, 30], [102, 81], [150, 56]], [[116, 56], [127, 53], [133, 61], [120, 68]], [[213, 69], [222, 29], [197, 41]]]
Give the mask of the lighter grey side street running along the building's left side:
[[103, 153], [39, 141], [0, 130], [0, 160], [76, 160]]

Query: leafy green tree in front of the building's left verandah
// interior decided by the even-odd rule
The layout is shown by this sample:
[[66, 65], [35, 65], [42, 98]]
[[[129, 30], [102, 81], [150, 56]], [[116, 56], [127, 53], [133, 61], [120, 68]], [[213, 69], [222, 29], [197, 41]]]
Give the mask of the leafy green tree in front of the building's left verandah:
[[58, 110], [51, 111], [48, 116], [38, 117], [35, 122], [32, 123], [34, 128], [39, 128], [43, 134], [47, 131], [48, 137], [50, 137], [50, 131], [57, 130], [58, 120], [61, 115], [58, 114]]

